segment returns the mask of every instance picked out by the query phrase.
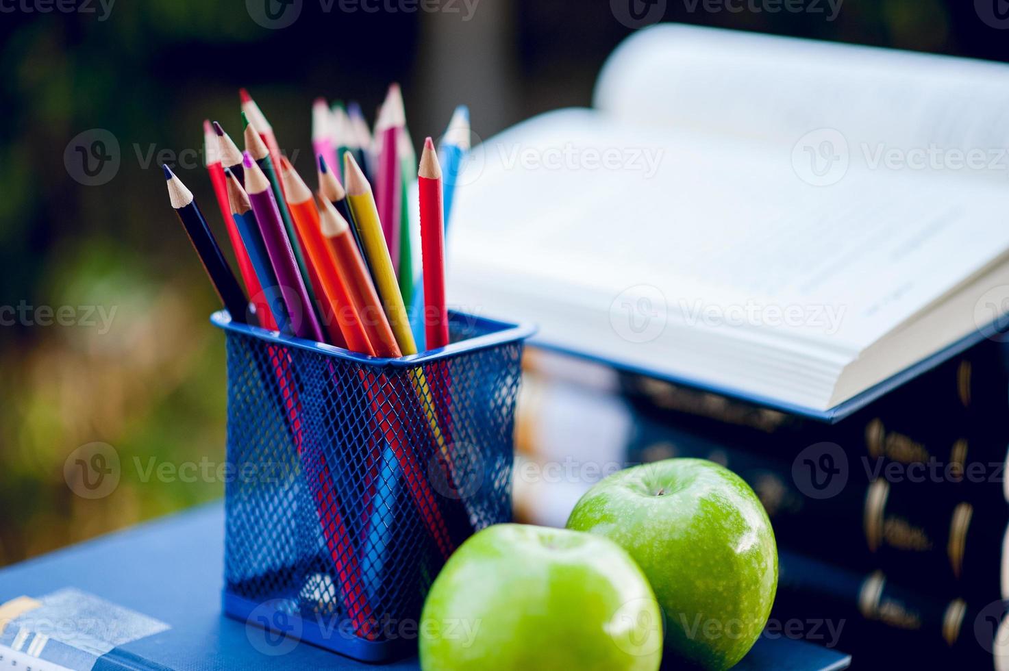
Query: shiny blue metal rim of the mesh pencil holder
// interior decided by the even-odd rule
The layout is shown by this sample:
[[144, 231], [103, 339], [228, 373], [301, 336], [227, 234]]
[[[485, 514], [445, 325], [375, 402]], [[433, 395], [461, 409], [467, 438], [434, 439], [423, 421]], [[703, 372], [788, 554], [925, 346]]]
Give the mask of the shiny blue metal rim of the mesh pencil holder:
[[272, 342], [289, 347], [297, 347], [310, 352], [325, 354], [326, 356], [353, 361], [364, 365], [374, 367], [388, 366], [393, 368], [412, 368], [431, 361], [457, 356], [459, 354], [468, 354], [481, 349], [497, 347], [509, 342], [527, 340], [537, 331], [535, 326], [529, 324], [502, 322], [496, 319], [490, 319], [489, 317], [479, 317], [477, 315], [457, 312], [454, 310], [449, 311], [449, 321], [452, 323], [464, 321], [467, 325], [476, 327], [480, 331], [486, 331], [486, 333], [472, 338], [466, 338], [465, 340], [460, 340], [458, 342], [453, 342], [438, 349], [432, 349], [418, 354], [410, 354], [408, 356], [401, 356], [398, 358], [388, 358], [359, 354], [342, 347], [336, 347], [334, 345], [328, 345], [314, 340], [306, 340], [305, 338], [283, 335], [278, 331], [269, 331], [259, 326], [241, 324], [233, 321], [227, 310], [218, 310], [210, 316], [211, 324], [222, 331], [231, 331], [232, 333], [251, 336], [264, 342]]

